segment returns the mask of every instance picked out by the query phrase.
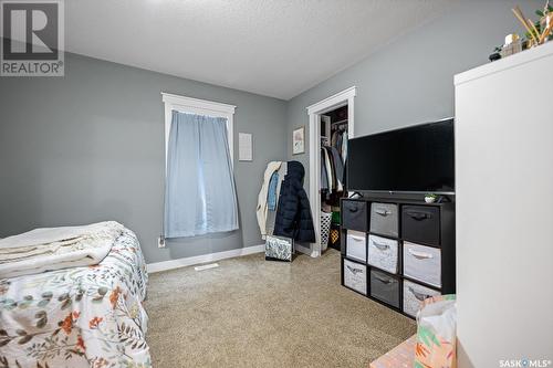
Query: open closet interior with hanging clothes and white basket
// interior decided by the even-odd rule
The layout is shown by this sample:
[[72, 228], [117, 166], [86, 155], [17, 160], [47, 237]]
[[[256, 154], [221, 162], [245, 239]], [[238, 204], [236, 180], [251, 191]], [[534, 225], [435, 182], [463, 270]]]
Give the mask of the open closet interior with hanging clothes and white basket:
[[340, 199], [347, 197], [347, 105], [321, 115], [321, 246], [340, 250]]

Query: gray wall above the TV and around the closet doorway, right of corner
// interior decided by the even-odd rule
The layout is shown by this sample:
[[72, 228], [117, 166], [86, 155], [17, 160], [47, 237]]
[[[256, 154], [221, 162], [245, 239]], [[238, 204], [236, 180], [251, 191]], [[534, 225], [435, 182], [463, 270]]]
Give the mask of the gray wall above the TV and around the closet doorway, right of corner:
[[309, 154], [290, 154], [292, 130], [305, 125], [309, 138], [305, 107], [353, 85], [357, 86], [356, 136], [453, 116], [453, 75], [487, 63], [505, 34], [523, 33], [511, 13], [517, 3], [531, 17], [544, 1], [463, 1], [292, 98], [288, 105], [289, 158], [309, 169]]

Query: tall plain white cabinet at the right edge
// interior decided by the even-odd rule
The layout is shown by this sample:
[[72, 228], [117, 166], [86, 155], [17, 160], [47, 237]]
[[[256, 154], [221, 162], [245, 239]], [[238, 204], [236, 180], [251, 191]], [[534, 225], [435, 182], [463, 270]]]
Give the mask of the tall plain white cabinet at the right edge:
[[459, 74], [459, 367], [553, 359], [553, 42]]

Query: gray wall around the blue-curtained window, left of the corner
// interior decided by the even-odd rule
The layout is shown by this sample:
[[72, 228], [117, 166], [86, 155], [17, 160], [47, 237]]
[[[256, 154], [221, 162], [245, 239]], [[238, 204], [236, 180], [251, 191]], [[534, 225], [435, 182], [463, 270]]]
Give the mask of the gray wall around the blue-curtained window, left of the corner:
[[[239, 231], [157, 248], [161, 91], [238, 106]], [[267, 161], [286, 157], [284, 101], [72, 54], [65, 77], [1, 77], [0, 96], [0, 238], [113, 219], [136, 231], [148, 263], [262, 243], [257, 194]], [[239, 132], [253, 134], [253, 162], [238, 161]]]

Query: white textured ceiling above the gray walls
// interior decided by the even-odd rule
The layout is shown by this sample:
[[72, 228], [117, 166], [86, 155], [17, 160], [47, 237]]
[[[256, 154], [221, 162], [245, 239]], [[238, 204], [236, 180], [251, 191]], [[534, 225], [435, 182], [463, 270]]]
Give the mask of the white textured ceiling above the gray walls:
[[453, 0], [71, 0], [70, 52], [289, 99]]

